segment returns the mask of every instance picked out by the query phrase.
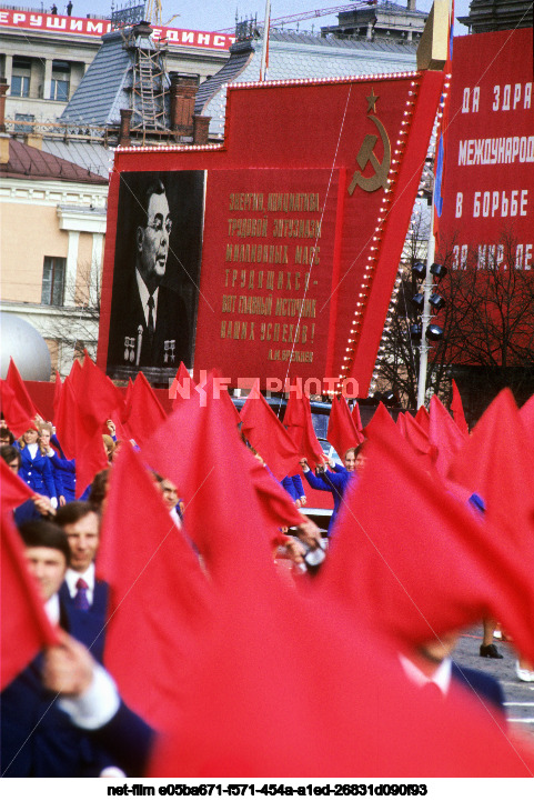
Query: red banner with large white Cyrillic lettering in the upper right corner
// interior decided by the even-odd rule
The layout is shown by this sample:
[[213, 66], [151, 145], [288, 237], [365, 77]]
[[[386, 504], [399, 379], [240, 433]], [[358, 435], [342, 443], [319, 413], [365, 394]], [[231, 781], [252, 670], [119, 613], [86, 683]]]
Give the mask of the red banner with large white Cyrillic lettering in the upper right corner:
[[532, 28], [454, 40], [441, 238], [453, 267], [505, 259], [531, 270], [534, 241]]

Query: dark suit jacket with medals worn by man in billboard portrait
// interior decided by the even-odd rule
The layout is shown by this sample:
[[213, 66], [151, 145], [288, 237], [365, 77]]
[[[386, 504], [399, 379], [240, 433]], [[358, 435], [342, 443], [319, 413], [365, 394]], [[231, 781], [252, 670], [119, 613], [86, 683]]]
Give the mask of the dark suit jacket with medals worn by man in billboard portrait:
[[[133, 280], [129, 289], [120, 297], [113, 296], [111, 310], [110, 337], [108, 348], [108, 364], [119, 367], [135, 367], [138, 349], [138, 329], [142, 327], [142, 347], [139, 367], [178, 368], [181, 361], [191, 366], [191, 342], [189, 319], [182, 297], [173, 289], [160, 286], [158, 291], [158, 309], [155, 314], [155, 330], [152, 344], [150, 344], [143, 307], [139, 297], [139, 289]], [[124, 339], [134, 341], [132, 351], [128, 353]], [[165, 341], [173, 341], [173, 351], [165, 351]], [[167, 361], [165, 361], [167, 354]]]

